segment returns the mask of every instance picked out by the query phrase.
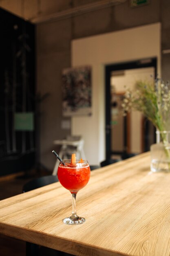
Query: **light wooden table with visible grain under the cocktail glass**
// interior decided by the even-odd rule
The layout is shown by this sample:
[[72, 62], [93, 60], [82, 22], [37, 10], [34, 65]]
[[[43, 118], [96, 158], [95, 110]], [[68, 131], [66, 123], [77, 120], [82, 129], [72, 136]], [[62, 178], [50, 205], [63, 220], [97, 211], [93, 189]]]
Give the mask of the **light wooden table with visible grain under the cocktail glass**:
[[170, 173], [150, 173], [150, 155], [91, 172], [77, 194], [70, 226], [71, 194], [59, 182], [0, 201], [0, 233], [78, 256], [169, 256]]

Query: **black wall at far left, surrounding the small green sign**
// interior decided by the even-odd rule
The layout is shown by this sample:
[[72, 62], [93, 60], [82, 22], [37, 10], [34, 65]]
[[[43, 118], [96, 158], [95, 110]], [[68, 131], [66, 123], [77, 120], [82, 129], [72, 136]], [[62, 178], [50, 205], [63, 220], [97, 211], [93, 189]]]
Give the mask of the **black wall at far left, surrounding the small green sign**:
[[28, 112], [35, 112], [35, 27], [0, 9], [0, 175], [35, 163], [34, 128], [14, 125], [16, 113]]

